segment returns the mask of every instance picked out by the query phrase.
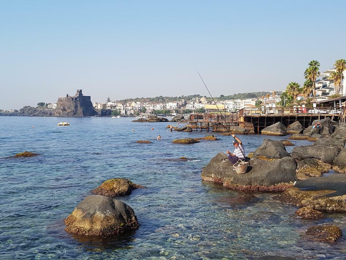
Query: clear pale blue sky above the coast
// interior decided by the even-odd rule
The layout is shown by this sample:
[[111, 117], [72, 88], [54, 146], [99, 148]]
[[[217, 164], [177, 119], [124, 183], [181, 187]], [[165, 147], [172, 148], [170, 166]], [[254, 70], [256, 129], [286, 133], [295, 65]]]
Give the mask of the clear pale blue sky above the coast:
[[[0, 109], [303, 84], [346, 59], [346, 1], [0, 0]], [[196, 68], [195, 68], [196, 67]]]

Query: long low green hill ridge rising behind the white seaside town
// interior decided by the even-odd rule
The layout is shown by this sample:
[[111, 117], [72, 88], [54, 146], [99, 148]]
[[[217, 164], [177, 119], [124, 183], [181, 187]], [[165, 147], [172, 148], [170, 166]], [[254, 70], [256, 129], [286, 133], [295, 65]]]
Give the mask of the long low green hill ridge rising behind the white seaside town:
[[[227, 100], [227, 99], [247, 99], [247, 98], [257, 98], [257, 97], [262, 97], [262, 96], [266, 96], [267, 94], [272, 95], [271, 92], [265, 92], [265, 91], [261, 91], [261, 92], [248, 92], [248, 93], [238, 93], [238, 94], [234, 94], [234, 95], [229, 95], [229, 96], [224, 96], [224, 95], [220, 95], [219, 97], [214, 97], [215, 100]], [[281, 92], [278, 91], [276, 92], [276, 95], [281, 95]], [[202, 95], [199, 94], [194, 94], [194, 95], [189, 95], [189, 96], [179, 96], [179, 97], [164, 97], [164, 96], [158, 96], [158, 97], [136, 97], [136, 98], [126, 98], [126, 99], [122, 99], [119, 100], [120, 103], [125, 103], [125, 102], [173, 102], [173, 101], [178, 101], [181, 99], [185, 99], [185, 100], [190, 100], [192, 98], [196, 98], [196, 97], [203, 97]], [[208, 101], [211, 100], [211, 97], [207, 97]]]

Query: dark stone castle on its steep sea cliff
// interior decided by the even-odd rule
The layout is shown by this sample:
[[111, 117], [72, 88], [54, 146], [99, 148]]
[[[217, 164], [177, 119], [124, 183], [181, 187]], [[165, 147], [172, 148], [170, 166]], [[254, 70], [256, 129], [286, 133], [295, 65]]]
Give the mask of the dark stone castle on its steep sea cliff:
[[94, 116], [97, 112], [90, 96], [84, 96], [82, 89], [77, 89], [74, 96], [59, 97], [54, 115], [56, 116]]

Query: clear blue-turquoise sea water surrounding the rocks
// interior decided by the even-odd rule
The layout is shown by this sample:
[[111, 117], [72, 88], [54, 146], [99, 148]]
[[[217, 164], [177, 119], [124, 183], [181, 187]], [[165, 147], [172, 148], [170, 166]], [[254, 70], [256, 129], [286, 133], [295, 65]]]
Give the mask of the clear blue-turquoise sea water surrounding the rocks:
[[[71, 125], [58, 127], [61, 121]], [[297, 207], [272, 200], [274, 193], [255, 194], [257, 203], [234, 204], [229, 198], [242, 192], [201, 181], [202, 167], [219, 151], [231, 150], [232, 137], [172, 144], [207, 133], [166, 132], [167, 123], [149, 124], [130, 118], [0, 117], [0, 259], [346, 259], [344, 239], [328, 245], [300, 237], [322, 223], [336, 224], [345, 234], [344, 215], [301, 220], [294, 218]], [[159, 134], [162, 140], [156, 140]], [[239, 137], [246, 153], [265, 138]], [[9, 157], [25, 150], [40, 155]], [[182, 156], [192, 159], [174, 160]], [[63, 219], [90, 190], [114, 177], [146, 186], [120, 197], [140, 227], [103, 240], [66, 233]]]

